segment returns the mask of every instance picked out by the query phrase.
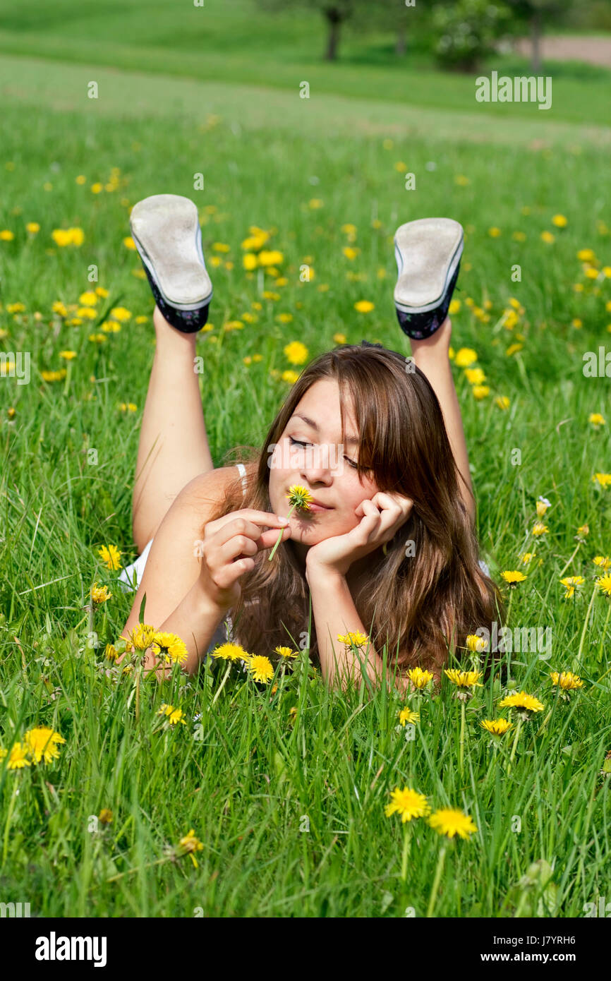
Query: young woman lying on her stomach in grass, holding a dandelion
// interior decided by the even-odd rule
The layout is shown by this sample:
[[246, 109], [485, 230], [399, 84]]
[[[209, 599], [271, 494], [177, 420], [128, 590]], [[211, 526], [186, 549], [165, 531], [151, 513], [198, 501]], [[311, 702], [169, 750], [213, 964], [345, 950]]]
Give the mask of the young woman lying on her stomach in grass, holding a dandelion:
[[[123, 636], [146, 595], [143, 622], [180, 638], [193, 674], [226, 639], [224, 620], [249, 654], [308, 646], [311, 599], [310, 658], [330, 683], [377, 683], [384, 658], [402, 691], [415, 666], [438, 680], [450, 652], [460, 659], [468, 635], [504, 617], [479, 561], [448, 357], [460, 225], [422, 219], [396, 233], [394, 301], [413, 357], [367, 341], [322, 354], [236, 475], [213, 467], [194, 370], [212, 296], [197, 209], [154, 195], [130, 222], [157, 344], [133, 490], [142, 554], [122, 576], [137, 586]], [[348, 634], [355, 648], [338, 640]], [[146, 665], [157, 666], [151, 648]]]

